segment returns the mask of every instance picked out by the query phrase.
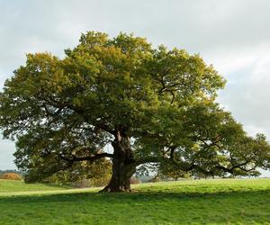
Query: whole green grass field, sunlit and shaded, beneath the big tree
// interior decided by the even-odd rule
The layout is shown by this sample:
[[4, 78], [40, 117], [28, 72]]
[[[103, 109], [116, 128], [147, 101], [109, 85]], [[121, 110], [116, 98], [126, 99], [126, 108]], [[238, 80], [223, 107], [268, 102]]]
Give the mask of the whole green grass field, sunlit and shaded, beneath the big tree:
[[0, 224], [270, 224], [270, 179], [137, 184], [133, 193], [2, 182]]

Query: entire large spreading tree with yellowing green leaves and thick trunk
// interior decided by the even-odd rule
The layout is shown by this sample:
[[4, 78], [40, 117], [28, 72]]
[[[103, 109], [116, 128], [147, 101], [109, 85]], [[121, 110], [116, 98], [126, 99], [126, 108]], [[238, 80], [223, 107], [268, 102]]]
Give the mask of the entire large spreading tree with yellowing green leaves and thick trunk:
[[269, 168], [266, 137], [247, 137], [215, 103], [225, 81], [199, 55], [93, 31], [65, 53], [28, 54], [1, 93], [0, 126], [29, 180], [103, 157], [112, 159], [104, 192], [130, 191], [147, 163], [205, 175]]

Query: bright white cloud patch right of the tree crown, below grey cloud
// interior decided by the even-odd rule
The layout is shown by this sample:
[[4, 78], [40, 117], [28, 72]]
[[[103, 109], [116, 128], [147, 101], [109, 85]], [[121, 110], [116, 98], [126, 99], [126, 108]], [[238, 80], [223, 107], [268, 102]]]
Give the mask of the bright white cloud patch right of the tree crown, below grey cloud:
[[[240, 48], [239, 48], [240, 49]], [[270, 45], [213, 54], [211, 61], [229, 81], [219, 102], [238, 121], [252, 130], [264, 130], [270, 137]], [[248, 129], [247, 129], [248, 130]], [[251, 134], [254, 134], [252, 131]]]

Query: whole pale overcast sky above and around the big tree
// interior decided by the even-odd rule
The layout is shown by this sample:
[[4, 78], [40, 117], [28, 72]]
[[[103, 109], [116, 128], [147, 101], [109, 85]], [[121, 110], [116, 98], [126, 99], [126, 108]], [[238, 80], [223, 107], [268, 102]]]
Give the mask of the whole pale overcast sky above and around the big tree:
[[[220, 104], [248, 134], [270, 140], [269, 12], [269, 0], [0, 0], [0, 89], [26, 53], [61, 58], [85, 31], [133, 32], [199, 53], [227, 79]], [[0, 140], [0, 169], [15, 168], [14, 150]]]

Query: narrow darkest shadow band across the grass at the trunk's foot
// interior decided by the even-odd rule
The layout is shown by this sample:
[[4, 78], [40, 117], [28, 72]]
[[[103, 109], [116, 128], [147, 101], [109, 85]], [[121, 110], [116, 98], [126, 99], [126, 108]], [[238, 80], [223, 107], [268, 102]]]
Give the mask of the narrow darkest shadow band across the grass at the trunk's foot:
[[79, 201], [98, 201], [98, 202], [148, 202], [157, 200], [196, 200], [200, 198], [252, 198], [255, 196], [264, 196], [268, 198], [270, 204], [269, 190], [245, 190], [215, 193], [200, 192], [133, 192], [133, 193], [51, 193], [51, 194], [29, 194], [29, 195], [10, 195], [0, 196], [0, 202], [79, 202]]

